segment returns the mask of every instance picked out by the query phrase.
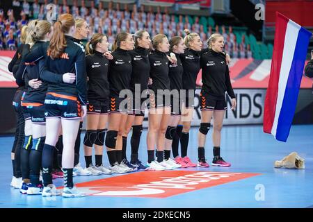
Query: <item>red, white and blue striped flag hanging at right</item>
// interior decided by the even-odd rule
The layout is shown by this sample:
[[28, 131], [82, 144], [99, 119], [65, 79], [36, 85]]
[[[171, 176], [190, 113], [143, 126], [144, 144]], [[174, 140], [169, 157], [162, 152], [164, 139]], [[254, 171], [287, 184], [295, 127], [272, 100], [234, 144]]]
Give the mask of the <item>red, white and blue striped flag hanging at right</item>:
[[271, 76], [264, 103], [264, 133], [286, 142], [296, 110], [312, 33], [276, 12]]

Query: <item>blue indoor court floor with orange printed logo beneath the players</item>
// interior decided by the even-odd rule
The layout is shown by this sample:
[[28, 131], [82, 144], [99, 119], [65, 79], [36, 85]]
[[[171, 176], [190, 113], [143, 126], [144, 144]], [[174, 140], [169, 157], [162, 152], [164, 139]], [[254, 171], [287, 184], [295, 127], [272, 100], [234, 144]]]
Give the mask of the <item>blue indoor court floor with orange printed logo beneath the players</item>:
[[[147, 130], [143, 133], [140, 148], [143, 162], [147, 160], [146, 133]], [[197, 133], [198, 128], [191, 129], [188, 155], [193, 162], [198, 156]], [[262, 126], [226, 126], [222, 133], [221, 155], [232, 163], [230, 168], [210, 166], [208, 169], [195, 167], [163, 174], [149, 171], [127, 175], [77, 176], [74, 182], [85, 182], [80, 185], [84, 187], [81, 189], [90, 194], [83, 198], [42, 198], [19, 194], [18, 189], [10, 187], [13, 137], [0, 137], [0, 207], [313, 207], [312, 125], [292, 126], [287, 143], [278, 142], [272, 135], [263, 133]], [[83, 134], [81, 137], [83, 139]], [[206, 156], [211, 162], [211, 132], [208, 138]], [[273, 168], [275, 160], [281, 160], [292, 151], [305, 158], [306, 169]], [[84, 166], [82, 147], [81, 163]], [[106, 153], [104, 163], [108, 164]], [[180, 185], [179, 182], [164, 182], [196, 176], [198, 180], [184, 180], [185, 183]], [[163, 184], [158, 187], [156, 181], [160, 180]], [[54, 182], [57, 187], [63, 185], [62, 179]]]

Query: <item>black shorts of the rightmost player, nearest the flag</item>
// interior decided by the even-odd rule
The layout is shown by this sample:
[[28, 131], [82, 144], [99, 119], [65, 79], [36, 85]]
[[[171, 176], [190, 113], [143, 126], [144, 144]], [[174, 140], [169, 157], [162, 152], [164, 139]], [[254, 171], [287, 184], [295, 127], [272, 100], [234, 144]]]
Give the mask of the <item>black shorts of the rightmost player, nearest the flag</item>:
[[225, 96], [217, 97], [201, 92], [200, 103], [201, 110], [227, 110]]

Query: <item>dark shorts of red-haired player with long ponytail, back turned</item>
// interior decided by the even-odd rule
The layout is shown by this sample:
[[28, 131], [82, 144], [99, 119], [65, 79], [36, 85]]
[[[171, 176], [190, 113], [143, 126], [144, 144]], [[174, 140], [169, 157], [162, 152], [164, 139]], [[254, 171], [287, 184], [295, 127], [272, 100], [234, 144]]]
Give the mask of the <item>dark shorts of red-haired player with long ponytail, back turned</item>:
[[45, 110], [46, 118], [81, 119], [81, 103], [77, 96], [48, 92]]

